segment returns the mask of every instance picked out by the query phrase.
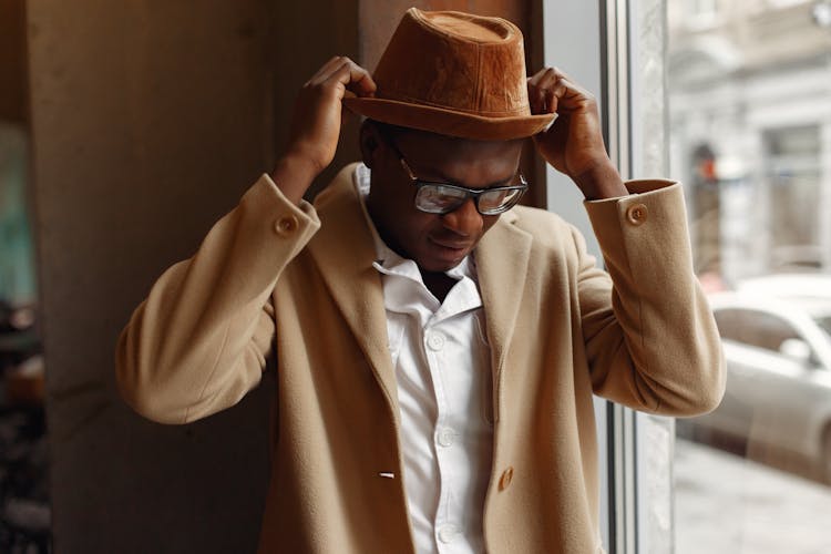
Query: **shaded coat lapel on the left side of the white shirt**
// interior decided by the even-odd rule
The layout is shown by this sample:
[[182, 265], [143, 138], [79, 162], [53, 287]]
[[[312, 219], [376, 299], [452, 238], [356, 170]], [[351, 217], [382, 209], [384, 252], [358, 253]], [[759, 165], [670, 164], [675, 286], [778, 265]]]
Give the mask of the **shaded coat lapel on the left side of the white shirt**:
[[387, 338], [387, 311], [372, 235], [367, 227], [352, 178], [345, 167], [315, 201], [320, 230], [308, 248], [324, 281], [369, 361], [372, 372], [398, 414], [398, 393]]

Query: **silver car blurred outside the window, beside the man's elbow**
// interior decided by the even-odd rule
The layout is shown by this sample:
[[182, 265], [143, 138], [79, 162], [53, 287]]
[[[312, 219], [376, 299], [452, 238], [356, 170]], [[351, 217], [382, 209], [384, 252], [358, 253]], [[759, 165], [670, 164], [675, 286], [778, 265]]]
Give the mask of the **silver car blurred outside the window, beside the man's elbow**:
[[679, 432], [831, 483], [831, 290], [810, 301], [787, 296], [746, 288], [709, 297], [727, 390]]

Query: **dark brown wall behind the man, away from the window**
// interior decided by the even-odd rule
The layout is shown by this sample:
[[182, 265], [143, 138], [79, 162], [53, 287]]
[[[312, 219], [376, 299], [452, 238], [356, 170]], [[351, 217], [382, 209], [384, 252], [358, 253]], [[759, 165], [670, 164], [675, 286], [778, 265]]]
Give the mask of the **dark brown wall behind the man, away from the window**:
[[[254, 550], [273, 386], [157, 425], [115, 394], [114, 343], [163, 269], [270, 168], [297, 88], [332, 54], [377, 58], [399, 3], [28, 0], [57, 552]], [[357, 157], [355, 131], [334, 166]]]

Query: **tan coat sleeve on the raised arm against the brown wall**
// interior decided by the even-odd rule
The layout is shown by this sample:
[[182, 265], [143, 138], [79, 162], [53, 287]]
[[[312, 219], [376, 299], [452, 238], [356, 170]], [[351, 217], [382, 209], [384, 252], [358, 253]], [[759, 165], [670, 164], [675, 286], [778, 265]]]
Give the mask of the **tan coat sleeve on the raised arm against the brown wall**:
[[151, 420], [186, 423], [256, 387], [275, 331], [271, 291], [319, 226], [309, 204], [295, 206], [263, 175], [133, 312], [115, 355], [124, 400]]

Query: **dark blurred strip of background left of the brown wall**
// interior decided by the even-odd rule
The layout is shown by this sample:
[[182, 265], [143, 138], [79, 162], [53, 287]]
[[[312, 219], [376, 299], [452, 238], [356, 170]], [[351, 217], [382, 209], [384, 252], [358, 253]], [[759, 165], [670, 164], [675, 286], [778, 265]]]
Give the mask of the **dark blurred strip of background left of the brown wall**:
[[23, 3], [0, 0], [0, 552], [47, 552], [50, 505]]

